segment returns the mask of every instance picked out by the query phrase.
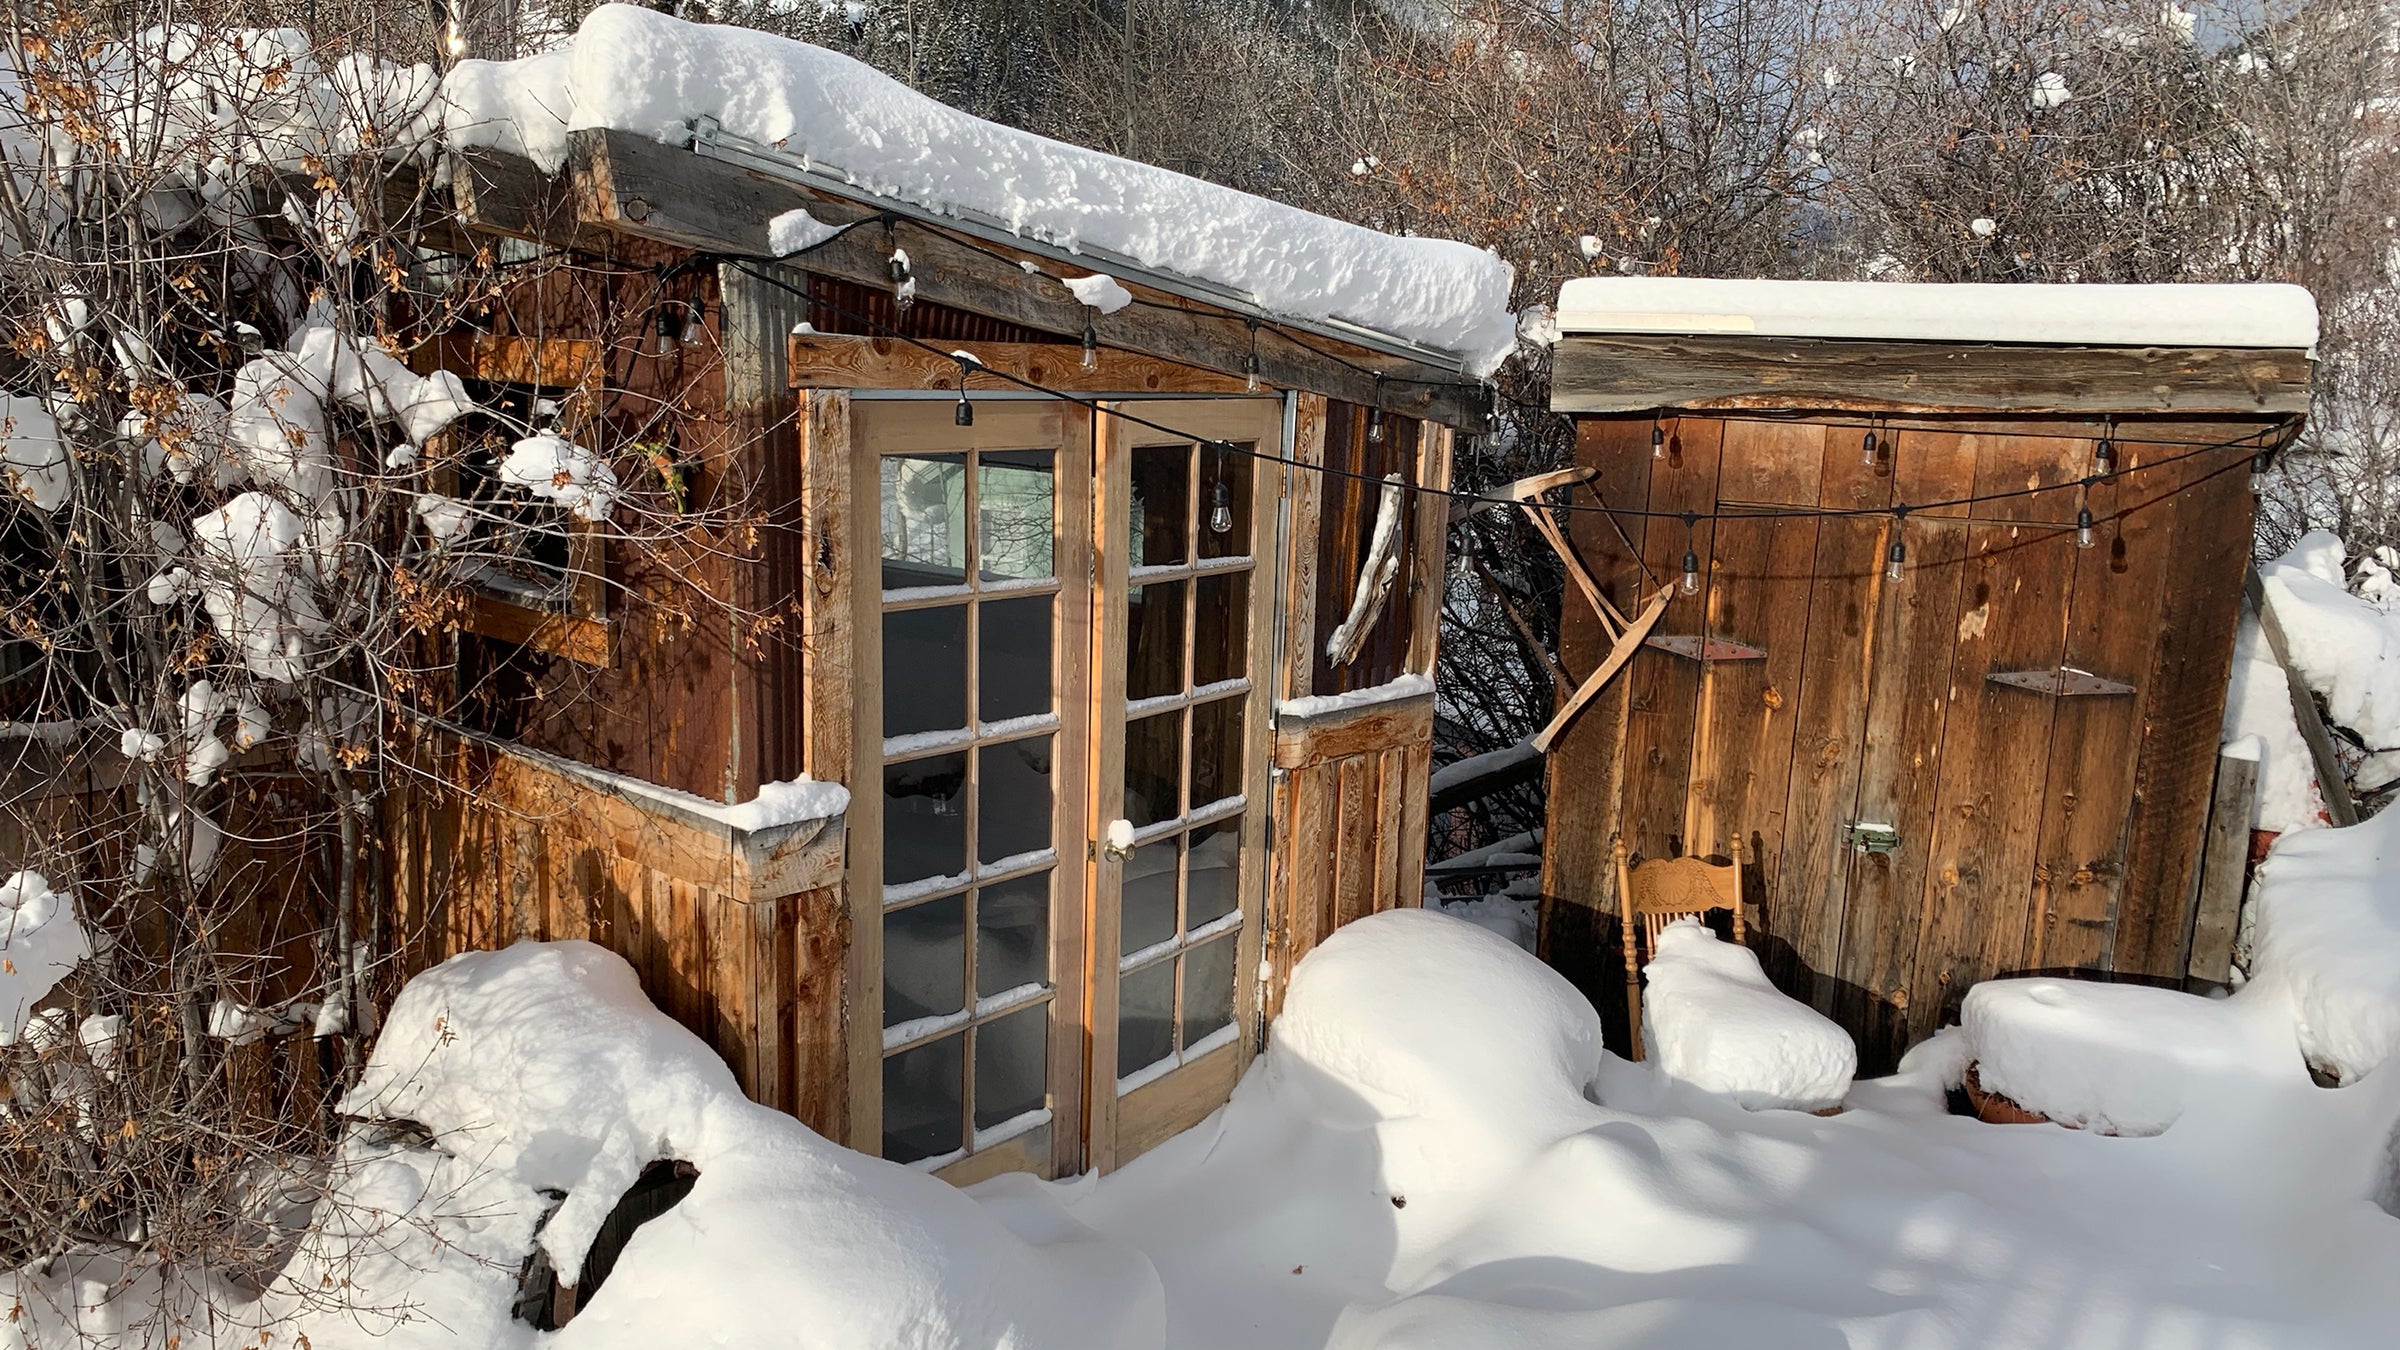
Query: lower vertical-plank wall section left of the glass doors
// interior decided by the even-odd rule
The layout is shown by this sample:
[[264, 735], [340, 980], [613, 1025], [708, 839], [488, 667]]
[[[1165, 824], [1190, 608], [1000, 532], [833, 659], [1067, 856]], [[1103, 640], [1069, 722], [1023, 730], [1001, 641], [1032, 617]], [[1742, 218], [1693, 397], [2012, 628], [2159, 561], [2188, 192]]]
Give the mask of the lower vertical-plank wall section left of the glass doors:
[[386, 800], [401, 970], [511, 942], [595, 942], [742, 1091], [828, 1139], [847, 1124], [842, 826], [754, 855], [487, 742], [427, 735]]

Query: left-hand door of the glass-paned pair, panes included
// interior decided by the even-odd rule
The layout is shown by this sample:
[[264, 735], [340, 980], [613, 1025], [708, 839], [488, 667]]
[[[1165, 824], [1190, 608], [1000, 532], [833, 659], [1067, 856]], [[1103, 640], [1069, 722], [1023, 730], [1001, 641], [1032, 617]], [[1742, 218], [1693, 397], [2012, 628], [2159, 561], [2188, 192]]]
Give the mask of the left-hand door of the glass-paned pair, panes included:
[[852, 1141], [1082, 1163], [1092, 418], [854, 399]]

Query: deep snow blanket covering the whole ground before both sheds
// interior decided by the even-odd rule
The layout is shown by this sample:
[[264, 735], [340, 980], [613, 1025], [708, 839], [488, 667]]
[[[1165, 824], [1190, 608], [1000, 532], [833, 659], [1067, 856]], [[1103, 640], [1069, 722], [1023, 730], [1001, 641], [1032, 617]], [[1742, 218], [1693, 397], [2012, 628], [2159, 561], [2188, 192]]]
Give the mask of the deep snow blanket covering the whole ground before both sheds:
[[[214, 1340], [178, 1290], [180, 1345], [254, 1345], [271, 1314], [317, 1350], [2390, 1345], [2400, 1076], [2318, 1088], [2302, 1043], [2366, 1055], [2390, 1026], [2376, 999], [2400, 994], [2328, 982], [2345, 968], [2318, 946], [2400, 966], [2393, 829], [2314, 831], [2268, 867], [2263, 968], [2232, 999], [2083, 1004], [2143, 1069], [2114, 1110], [2172, 1098], [2148, 1136], [1949, 1115], [1956, 1031], [1838, 1117], [1750, 1112], [1606, 1055], [1591, 1006], [1512, 942], [1392, 910], [1301, 961], [1270, 1050], [1198, 1129], [1104, 1179], [955, 1191], [742, 1100], [598, 946], [470, 954], [391, 1009], [346, 1103], [382, 1122], [350, 1139], [346, 1206], [266, 1300], [218, 1290]], [[2275, 920], [2321, 903], [2350, 930]], [[2047, 1006], [2042, 985], [1985, 1002]], [[2066, 1100], [2093, 1021], [2021, 1016], [1985, 1052], [2009, 1091]], [[526, 1254], [576, 1268], [650, 1158], [696, 1163], [691, 1196], [564, 1331], [509, 1321]], [[106, 1278], [24, 1278], [0, 1348], [60, 1343]], [[367, 1312], [310, 1307], [326, 1280]], [[134, 1295], [108, 1316], [161, 1297]]]

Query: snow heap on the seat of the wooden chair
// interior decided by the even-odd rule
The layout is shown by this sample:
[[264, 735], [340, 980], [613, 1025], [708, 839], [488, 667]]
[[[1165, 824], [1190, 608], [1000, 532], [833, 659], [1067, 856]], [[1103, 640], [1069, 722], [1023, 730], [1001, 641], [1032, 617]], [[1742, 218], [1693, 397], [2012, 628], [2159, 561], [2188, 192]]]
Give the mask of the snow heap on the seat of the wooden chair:
[[1850, 1033], [1776, 990], [1747, 946], [1675, 920], [1644, 973], [1642, 1047], [1668, 1079], [1745, 1110], [1826, 1110], [1850, 1091]]

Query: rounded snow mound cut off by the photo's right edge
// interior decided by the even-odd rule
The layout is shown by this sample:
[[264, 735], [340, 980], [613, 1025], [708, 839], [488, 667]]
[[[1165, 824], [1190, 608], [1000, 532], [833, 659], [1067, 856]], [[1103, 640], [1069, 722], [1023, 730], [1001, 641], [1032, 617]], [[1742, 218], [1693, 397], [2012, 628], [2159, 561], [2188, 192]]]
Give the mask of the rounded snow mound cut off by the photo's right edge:
[[2299, 1050], [2345, 1083], [2400, 1050], [2400, 812], [2275, 841], [2251, 891], [2254, 985], [2292, 997]]

